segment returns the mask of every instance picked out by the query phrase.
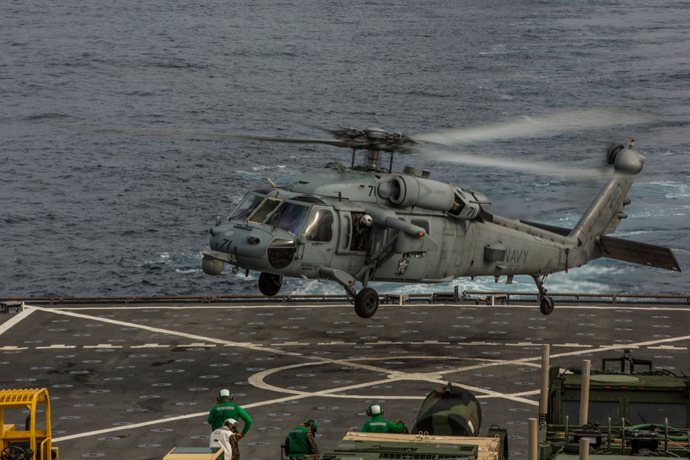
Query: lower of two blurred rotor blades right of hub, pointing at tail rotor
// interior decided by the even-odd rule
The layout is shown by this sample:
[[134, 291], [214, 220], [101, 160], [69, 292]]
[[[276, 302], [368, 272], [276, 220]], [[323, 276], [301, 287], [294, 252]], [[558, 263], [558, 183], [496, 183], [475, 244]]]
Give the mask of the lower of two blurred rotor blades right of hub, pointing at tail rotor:
[[597, 169], [582, 169], [569, 166], [544, 163], [535, 163], [533, 161], [518, 161], [505, 158], [484, 157], [480, 155], [447, 152], [444, 150], [420, 148], [420, 153], [428, 157], [438, 159], [440, 161], [449, 161], [451, 163], [460, 163], [474, 166], [490, 166], [492, 168], [502, 168], [519, 171], [530, 171], [538, 174], [545, 174], [548, 176], [569, 177], [577, 179], [601, 179], [607, 175], [605, 168]]

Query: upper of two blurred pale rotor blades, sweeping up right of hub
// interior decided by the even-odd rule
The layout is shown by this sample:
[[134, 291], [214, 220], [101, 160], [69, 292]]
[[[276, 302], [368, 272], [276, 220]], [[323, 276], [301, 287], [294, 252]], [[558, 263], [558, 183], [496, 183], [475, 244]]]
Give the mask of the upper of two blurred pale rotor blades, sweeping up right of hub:
[[414, 139], [420, 142], [452, 146], [457, 143], [529, 137], [535, 134], [555, 135], [566, 130], [645, 123], [651, 120], [653, 117], [617, 110], [575, 110], [544, 117], [523, 117], [522, 120], [511, 123], [422, 134], [415, 136]]

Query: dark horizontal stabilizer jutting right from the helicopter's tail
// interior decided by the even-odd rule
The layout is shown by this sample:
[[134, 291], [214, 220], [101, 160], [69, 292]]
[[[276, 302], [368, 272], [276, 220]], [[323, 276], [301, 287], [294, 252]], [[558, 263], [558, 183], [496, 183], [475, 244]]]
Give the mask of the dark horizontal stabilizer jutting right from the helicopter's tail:
[[599, 248], [602, 257], [680, 272], [678, 260], [669, 248], [607, 236], [601, 237]]

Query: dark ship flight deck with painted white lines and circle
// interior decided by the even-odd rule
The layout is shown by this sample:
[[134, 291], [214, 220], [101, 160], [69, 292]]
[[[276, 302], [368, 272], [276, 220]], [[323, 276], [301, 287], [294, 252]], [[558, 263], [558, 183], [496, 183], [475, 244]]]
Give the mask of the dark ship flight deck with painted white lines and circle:
[[[411, 427], [426, 394], [449, 381], [482, 408], [480, 434], [508, 431], [527, 456], [539, 417], [542, 345], [567, 368], [630, 349], [656, 368], [690, 370], [690, 306], [560, 303], [79, 303], [0, 314], [3, 388], [47, 388], [53, 446], [66, 459], [162, 459], [208, 446], [221, 388], [252, 417], [242, 459], [279, 459], [290, 428], [315, 419], [327, 450], [381, 403]], [[23, 424], [23, 420], [5, 420]], [[239, 422], [240, 428], [242, 421]]]

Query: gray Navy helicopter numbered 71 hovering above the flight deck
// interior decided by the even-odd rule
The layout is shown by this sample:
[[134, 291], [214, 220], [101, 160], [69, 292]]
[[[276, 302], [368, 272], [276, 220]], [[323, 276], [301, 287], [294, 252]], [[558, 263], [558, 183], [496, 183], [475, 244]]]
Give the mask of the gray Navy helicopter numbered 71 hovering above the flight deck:
[[[326, 128], [332, 139], [267, 137], [207, 133], [206, 138], [246, 139], [281, 143], [325, 144], [349, 148], [346, 166], [332, 161], [302, 172], [282, 186], [250, 190], [226, 219], [210, 229], [210, 248], [201, 268], [218, 275], [229, 264], [233, 273], [260, 272], [259, 291], [274, 296], [284, 278], [335, 281], [354, 304], [359, 317], [370, 318], [379, 296], [373, 281], [440, 283], [458, 277], [533, 278], [540, 311], [551, 314], [553, 298], [544, 281], [607, 257], [680, 272], [668, 248], [609, 236], [631, 200], [627, 197], [645, 158], [635, 141], [612, 143], [606, 161], [613, 175], [593, 199], [574, 228], [513, 220], [492, 214], [482, 192], [431, 179], [431, 172], [405, 166], [393, 170], [393, 156], [425, 152], [429, 144], [451, 146], [501, 136], [524, 136], [544, 130], [624, 123], [620, 114], [607, 119], [588, 113], [554, 115], [475, 130], [408, 136], [380, 128]], [[358, 151], [366, 162], [355, 164]], [[431, 152], [432, 150], [428, 150]], [[380, 155], [390, 154], [388, 167]], [[357, 290], [357, 283], [362, 288]]]

